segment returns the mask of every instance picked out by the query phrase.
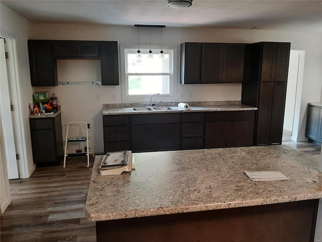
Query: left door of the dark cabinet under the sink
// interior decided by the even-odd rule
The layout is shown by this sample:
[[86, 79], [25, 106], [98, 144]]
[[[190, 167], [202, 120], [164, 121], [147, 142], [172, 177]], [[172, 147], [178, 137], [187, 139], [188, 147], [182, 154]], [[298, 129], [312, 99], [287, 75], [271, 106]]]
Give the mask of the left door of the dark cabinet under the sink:
[[155, 125], [132, 126], [132, 151], [155, 151]]

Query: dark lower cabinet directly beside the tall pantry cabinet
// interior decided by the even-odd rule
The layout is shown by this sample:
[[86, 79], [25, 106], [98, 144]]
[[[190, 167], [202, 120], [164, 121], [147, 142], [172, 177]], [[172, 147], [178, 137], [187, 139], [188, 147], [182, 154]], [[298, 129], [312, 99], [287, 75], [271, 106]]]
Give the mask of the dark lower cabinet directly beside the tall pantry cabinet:
[[252, 146], [255, 111], [219, 111], [205, 115], [205, 148]]

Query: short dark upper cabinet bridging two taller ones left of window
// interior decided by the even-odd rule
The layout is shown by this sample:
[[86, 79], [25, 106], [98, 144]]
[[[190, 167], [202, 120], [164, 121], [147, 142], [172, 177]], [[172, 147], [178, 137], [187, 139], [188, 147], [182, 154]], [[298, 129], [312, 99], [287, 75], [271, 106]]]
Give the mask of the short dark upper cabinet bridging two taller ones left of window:
[[100, 56], [98, 41], [55, 40], [53, 49], [55, 58]]

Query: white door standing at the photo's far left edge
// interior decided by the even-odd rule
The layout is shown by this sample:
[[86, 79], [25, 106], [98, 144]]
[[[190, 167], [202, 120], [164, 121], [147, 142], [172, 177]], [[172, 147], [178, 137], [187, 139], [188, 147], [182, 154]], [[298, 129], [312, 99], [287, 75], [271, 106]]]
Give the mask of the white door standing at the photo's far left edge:
[[15, 179], [19, 178], [18, 164], [16, 159], [16, 146], [14, 138], [14, 130], [12, 123], [11, 113], [11, 102], [10, 102], [10, 91], [8, 84], [8, 74], [6, 65], [6, 54], [5, 54], [5, 40], [0, 39], [0, 94], [1, 104], [0, 113], [2, 121], [2, 130], [5, 142], [6, 161], [8, 168], [8, 178]]

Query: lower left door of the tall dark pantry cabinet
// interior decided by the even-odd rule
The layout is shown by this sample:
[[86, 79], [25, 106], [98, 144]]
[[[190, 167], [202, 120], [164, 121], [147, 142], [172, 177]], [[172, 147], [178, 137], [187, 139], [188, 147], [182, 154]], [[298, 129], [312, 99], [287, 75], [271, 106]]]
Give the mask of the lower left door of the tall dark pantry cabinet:
[[260, 84], [256, 145], [269, 144], [273, 91], [273, 82]]

